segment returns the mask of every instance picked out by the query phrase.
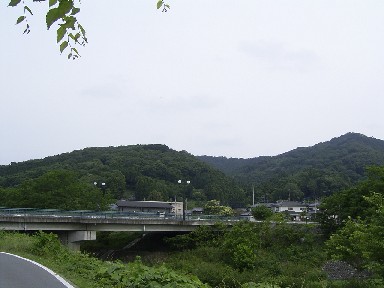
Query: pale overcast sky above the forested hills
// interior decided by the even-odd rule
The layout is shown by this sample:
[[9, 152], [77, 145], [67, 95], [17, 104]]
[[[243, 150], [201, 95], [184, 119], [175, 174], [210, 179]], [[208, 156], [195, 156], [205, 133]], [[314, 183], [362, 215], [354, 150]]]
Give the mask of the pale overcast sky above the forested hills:
[[[165, 144], [274, 156], [348, 132], [384, 139], [382, 0], [83, 0], [68, 60], [48, 3], [0, 3], [0, 165]], [[48, 2], [48, 1], [46, 1]]]

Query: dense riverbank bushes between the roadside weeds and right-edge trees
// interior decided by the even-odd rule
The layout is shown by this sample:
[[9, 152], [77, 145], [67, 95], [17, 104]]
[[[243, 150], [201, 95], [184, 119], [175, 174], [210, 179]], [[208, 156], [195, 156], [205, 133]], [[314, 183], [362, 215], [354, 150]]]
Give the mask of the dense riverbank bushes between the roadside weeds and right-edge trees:
[[309, 225], [239, 222], [220, 234], [205, 227], [182, 238], [190, 250], [174, 253], [166, 265], [192, 273], [213, 287], [252, 282], [291, 288], [311, 283], [316, 288], [325, 281], [322, 242], [317, 229]]

